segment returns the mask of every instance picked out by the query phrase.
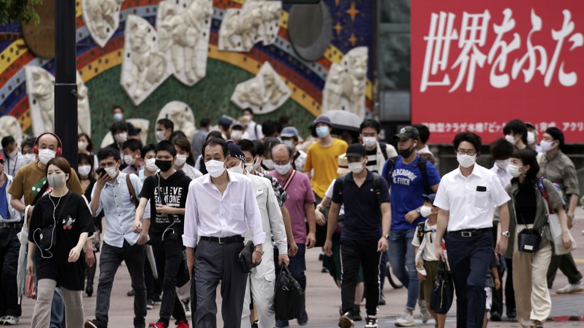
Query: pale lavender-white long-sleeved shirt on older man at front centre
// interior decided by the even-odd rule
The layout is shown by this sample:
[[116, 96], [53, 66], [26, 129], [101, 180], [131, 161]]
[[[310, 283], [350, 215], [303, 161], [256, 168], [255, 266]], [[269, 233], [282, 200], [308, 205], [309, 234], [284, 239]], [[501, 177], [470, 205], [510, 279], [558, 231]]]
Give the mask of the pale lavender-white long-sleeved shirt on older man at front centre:
[[208, 173], [189, 185], [185, 208], [183, 244], [194, 248], [199, 236], [229, 237], [251, 232], [253, 245], [266, 241], [262, 216], [252, 182], [227, 171], [229, 182], [223, 194]]

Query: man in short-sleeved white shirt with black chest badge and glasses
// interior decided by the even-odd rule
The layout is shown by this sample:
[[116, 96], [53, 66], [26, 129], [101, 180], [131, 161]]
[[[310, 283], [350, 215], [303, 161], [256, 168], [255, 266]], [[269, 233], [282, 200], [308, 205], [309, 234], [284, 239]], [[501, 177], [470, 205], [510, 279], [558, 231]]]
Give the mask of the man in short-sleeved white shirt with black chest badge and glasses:
[[[439, 208], [436, 240], [448, 231], [446, 249], [457, 296], [458, 327], [482, 327], [485, 311], [485, 277], [493, 252], [491, 227], [495, 206], [499, 208], [502, 236], [495, 252], [505, 253], [509, 238], [509, 196], [497, 175], [475, 163], [481, 137], [462, 132], [454, 137], [460, 166], [442, 177], [434, 206]], [[440, 242], [436, 257], [444, 259]]]

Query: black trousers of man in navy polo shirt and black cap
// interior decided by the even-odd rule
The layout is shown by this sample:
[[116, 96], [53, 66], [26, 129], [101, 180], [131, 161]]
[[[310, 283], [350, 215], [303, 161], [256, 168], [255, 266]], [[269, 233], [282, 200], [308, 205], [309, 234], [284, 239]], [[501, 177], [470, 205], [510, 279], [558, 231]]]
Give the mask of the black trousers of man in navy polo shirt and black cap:
[[363, 267], [365, 285], [365, 309], [367, 315], [376, 316], [379, 305], [379, 261], [381, 253], [377, 252], [379, 238], [367, 240], [340, 239], [341, 285], [340, 301], [343, 313], [353, 314], [355, 287], [359, 277], [359, 266]]

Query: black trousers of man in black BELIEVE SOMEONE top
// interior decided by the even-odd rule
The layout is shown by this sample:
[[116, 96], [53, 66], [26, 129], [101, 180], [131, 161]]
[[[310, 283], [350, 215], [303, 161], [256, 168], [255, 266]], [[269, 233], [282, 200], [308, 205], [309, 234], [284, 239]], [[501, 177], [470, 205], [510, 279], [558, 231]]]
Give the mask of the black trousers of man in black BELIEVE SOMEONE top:
[[180, 262], [183, 260], [183, 247], [182, 239], [175, 233], [167, 233], [164, 240], [152, 245], [158, 270], [158, 282], [162, 286], [162, 302], [158, 322], [164, 323], [165, 327], [168, 327], [171, 315], [176, 320], [186, 322], [185, 309], [176, 296], [176, 280]]

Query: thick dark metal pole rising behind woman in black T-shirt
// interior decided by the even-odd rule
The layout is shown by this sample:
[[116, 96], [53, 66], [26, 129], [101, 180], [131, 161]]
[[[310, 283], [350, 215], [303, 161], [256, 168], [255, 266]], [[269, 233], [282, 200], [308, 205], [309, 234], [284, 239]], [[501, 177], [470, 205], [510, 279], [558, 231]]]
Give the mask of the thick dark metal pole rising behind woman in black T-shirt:
[[75, 0], [55, 1], [55, 134], [77, 170], [77, 75]]

